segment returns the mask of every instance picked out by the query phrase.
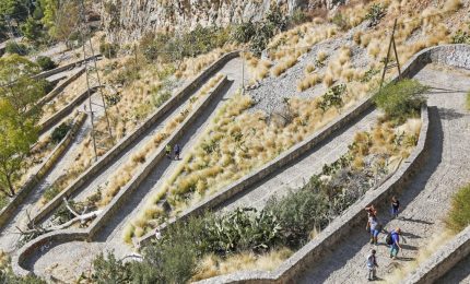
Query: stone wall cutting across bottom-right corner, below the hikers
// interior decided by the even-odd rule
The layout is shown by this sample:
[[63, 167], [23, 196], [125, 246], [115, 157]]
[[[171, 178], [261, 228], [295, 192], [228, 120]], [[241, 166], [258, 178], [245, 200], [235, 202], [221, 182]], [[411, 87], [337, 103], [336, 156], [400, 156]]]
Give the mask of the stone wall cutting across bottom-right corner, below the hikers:
[[414, 271], [404, 283], [431, 284], [439, 280], [458, 262], [470, 255], [470, 226], [460, 232], [443, 248], [437, 250], [426, 262]]

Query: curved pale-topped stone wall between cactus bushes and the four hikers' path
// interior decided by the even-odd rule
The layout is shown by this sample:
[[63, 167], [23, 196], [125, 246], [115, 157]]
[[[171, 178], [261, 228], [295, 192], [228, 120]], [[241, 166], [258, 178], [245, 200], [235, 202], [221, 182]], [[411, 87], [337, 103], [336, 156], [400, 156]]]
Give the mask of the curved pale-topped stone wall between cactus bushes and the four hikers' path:
[[426, 162], [426, 145], [430, 137], [427, 107], [421, 110], [422, 127], [416, 149], [401, 164], [391, 177], [378, 188], [366, 192], [359, 201], [338, 216], [328, 227], [326, 227], [315, 239], [305, 245], [291, 258], [284, 261], [273, 272], [247, 271], [237, 272], [228, 275], [216, 276], [198, 283], [291, 283], [295, 276], [309, 267], [309, 263], [321, 258], [330, 247], [336, 246], [350, 229], [357, 224], [364, 223], [366, 216], [364, 208], [369, 204], [381, 205], [387, 203], [393, 194], [398, 194], [403, 186], [416, 169]]

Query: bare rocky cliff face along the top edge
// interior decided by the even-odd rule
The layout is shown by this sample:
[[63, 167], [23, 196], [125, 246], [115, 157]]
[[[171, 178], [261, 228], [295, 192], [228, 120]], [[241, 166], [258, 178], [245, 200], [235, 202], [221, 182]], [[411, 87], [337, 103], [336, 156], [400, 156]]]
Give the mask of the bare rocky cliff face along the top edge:
[[[344, 0], [277, 0], [286, 13], [296, 9], [331, 9]], [[103, 21], [111, 40], [133, 40], [146, 32], [225, 26], [249, 19], [259, 20], [271, 0], [107, 0]]]

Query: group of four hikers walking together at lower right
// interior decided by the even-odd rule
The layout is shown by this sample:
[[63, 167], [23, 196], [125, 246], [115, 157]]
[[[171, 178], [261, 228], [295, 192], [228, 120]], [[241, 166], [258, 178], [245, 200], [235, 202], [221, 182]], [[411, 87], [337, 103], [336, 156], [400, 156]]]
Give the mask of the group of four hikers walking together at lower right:
[[[371, 234], [371, 244], [377, 246], [378, 245], [378, 235], [383, 230], [383, 225], [380, 224], [380, 222], [377, 218], [377, 210], [374, 208], [374, 205], [365, 208], [365, 210], [367, 212], [366, 230], [369, 232], [369, 234]], [[390, 202], [390, 211], [391, 211], [391, 216], [393, 218], [398, 217], [399, 210], [400, 210], [400, 201], [396, 197], [392, 197], [391, 202]], [[396, 259], [398, 252], [401, 249], [400, 235], [401, 235], [401, 229], [399, 227], [397, 227], [397, 228], [388, 232], [386, 237], [385, 237], [385, 244], [387, 246], [389, 246], [389, 248], [390, 248], [390, 258], [391, 259]], [[376, 270], [378, 268], [378, 264], [377, 264], [376, 253], [377, 253], [377, 251], [375, 249], [373, 249], [371, 251], [371, 255], [367, 256], [367, 279], [369, 281], [377, 279]]]

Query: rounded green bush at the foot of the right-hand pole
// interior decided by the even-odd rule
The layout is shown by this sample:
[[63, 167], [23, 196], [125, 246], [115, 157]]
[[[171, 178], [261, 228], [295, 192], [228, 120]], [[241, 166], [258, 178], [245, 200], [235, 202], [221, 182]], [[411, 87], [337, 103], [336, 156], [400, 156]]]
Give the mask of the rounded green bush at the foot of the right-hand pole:
[[389, 119], [404, 122], [407, 118], [419, 116], [425, 102], [422, 94], [427, 90], [418, 81], [406, 79], [388, 84], [373, 99]]

